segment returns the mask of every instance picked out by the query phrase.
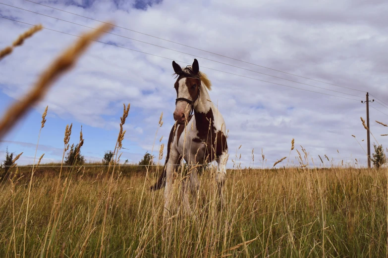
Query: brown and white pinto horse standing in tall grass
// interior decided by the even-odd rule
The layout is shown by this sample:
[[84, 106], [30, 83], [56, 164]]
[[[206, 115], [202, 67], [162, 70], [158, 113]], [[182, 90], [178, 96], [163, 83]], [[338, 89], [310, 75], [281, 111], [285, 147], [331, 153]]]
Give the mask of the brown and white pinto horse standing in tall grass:
[[222, 186], [226, 177], [228, 159], [226, 126], [218, 107], [210, 99], [208, 90], [211, 90], [212, 84], [206, 74], [199, 71], [198, 60], [194, 59], [193, 64], [185, 68], [172, 61], [172, 67], [173, 75], [177, 78], [174, 84], [175, 124], [168, 137], [163, 172], [150, 189], [157, 190], [165, 187], [164, 214], [166, 214], [171, 201], [173, 174], [183, 158], [189, 169], [189, 178], [187, 178], [189, 182], [183, 184], [182, 188], [183, 203], [186, 210], [191, 213], [186, 188], [189, 187], [191, 194], [196, 198], [200, 186], [198, 164], [204, 165], [217, 161], [215, 180], [222, 202]]

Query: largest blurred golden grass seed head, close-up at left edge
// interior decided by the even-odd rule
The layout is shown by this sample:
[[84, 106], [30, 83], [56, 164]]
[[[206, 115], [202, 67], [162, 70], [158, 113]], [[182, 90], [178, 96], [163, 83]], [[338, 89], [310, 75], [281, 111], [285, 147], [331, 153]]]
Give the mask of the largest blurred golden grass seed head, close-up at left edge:
[[5, 111], [4, 116], [0, 120], [0, 139], [35, 103], [46, 95], [47, 90], [60, 75], [74, 66], [90, 43], [109, 29], [111, 29], [111, 25], [104, 24], [97, 30], [84, 34], [43, 72], [30, 92]]

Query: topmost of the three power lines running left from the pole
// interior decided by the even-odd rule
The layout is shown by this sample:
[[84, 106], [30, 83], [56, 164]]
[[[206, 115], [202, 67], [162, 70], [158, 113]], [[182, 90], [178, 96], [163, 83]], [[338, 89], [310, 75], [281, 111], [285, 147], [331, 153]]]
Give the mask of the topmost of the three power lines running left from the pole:
[[[32, 2], [32, 3], [36, 3], [36, 4], [40, 4], [40, 5], [49, 7], [49, 8], [53, 8], [53, 9], [58, 10], [58, 11], [67, 12], [67, 13], [70, 13], [70, 14], [73, 14], [73, 15], [77, 15], [77, 16], [80, 16], [80, 17], [83, 17], [83, 18], [87, 18], [87, 19], [90, 19], [90, 20], [93, 20], [93, 21], [98, 21], [98, 22], [102, 22], [102, 23], [105, 23], [105, 24], [110, 24], [110, 23], [107, 23], [107, 22], [103, 22], [103, 21], [100, 21], [100, 20], [97, 20], [97, 19], [93, 19], [93, 18], [86, 17], [86, 16], [83, 16], [83, 15], [80, 15], [80, 14], [76, 14], [76, 13], [73, 13], [73, 12], [65, 11], [65, 10], [62, 10], [62, 9], [59, 9], [59, 8], [55, 8], [55, 7], [52, 7], [52, 6], [49, 6], [49, 5], [45, 5], [45, 4], [42, 4], [42, 3], [34, 2], [34, 1], [31, 1], [31, 0], [26, 0], [26, 1], [29, 1], [29, 2]], [[236, 58], [229, 57], [229, 56], [226, 56], [226, 55], [222, 55], [222, 54], [218, 54], [218, 53], [215, 53], [215, 52], [207, 51], [207, 50], [204, 50], [204, 49], [201, 49], [201, 48], [197, 48], [197, 47], [194, 47], [194, 46], [189, 46], [189, 45], [186, 45], [186, 44], [182, 44], [182, 43], [177, 43], [177, 42], [174, 42], [174, 41], [166, 40], [166, 39], [163, 39], [163, 38], [160, 38], [160, 37], [156, 37], [156, 36], [153, 36], [153, 35], [150, 35], [150, 34], [146, 34], [146, 33], [142, 33], [142, 32], [135, 31], [135, 30], [131, 30], [131, 29], [128, 29], [128, 28], [125, 28], [125, 27], [121, 27], [121, 26], [118, 26], [118, 25], [114, 25], [114, 24], [110, 24], [110, 25], [112, 25], [114, 27], [117, 27], [117, 28], [120, 28], [120, 29], [124, 29], [124, 30], [135, 32], [135, 33], [139, 33], [139, 34], [142, 34], [142, 35], [146, 35], [146, 36], [149, 36], [149, 37], [152, 37], [152, 38], [155, 38], [155, 39], [163, 40], [163, 41], [170, 42], [170, 43], [175, 43], [175, 44], [178, 44], [178, 45], [182, 45], [182, 46], [190, 47], [190, 48], [193, 48], [193, 49], [197, 49], [197, 50], [200, 50], [200, 51], [203, 51], [203, 52], [207, 52], [207, 53], [211, 53], [211, 54], [214, 54], [214, 55], [218, 55], [218, 56], [222, 56], [222, 57], [225, 57], [225, 58], [229, 58], [229, 59], [232, 59], [232, 60], [235, 60], [235, 61], [239, 61], [239, 62], [242, 62], [242, 63], [255, 65], [255, 66], [258, 66], [258, 67], [270, 69], [270, 70], [273, 70], [273, 71], [277, 71], [277, 72], [288, 74], [288, 75], [292, 75], [292, 76], [297, 76], [297, 77], [300, 77], [300, 78], [308, 79], [308, 80], [319, 82], [319, 83], [324, 83], [324, 84], [328, 84], [328, 85], [333, 85], [333, 86], [337, 86], [337, 87], [348, 88], [348, 89], [364, 92], [364, 90], [359, 90], [359, 89], [355, 89], [355, 88], [351, 88], [351, 87], [345, 87], [345, 86], [340, 86], [340, 85], [336, 85], [336, 84], [331, 84], [331, 83], [328, 83], [328, 82], [323, 82], [323, 81], [311, 79], [311, 78], [308, 78], [308, 77], [303, 77], [303, 76], [300, 76], [300, 75], [283, 72], [283, 71], [280, 71], [280, 70], [277, 70], [277, 69], [273, 69], [273, 68], [270, 68], [270, 67], [266, 67], [266, 66], [262, 66], [262, 65], [246, 62], [246, 61], [243, 61], [243, 60], [240, 60], [240, 59], [236, 59]]]

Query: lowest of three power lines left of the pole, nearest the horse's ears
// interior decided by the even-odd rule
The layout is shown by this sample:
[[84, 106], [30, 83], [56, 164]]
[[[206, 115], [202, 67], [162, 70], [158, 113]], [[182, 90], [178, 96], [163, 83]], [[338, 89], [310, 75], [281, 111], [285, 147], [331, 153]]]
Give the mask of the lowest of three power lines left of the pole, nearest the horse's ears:
[[[27, 23], [27, 22], [18, 21], [18, 20], [6, 18], [6, 17], [3, 17], [3, 16], [0, 16], [0, 18], [7, 19], [7, 20], [11, 20], [11, 21], [15, 21], [15, 22], [20, 22], [20, 23], [24, 23], [24, 24], [28, 24], [28, 25], [31, 25], [31, 26], [36, 26], [36, 25], [30, 24], [30, 23]], [[66, 33], [66, 32], [61, 32], [61, 31], [57, 31], [57, 30], [53, 30], [53, 29], [49, 29], [49, 28], [46, 28], [46, 27], [44, 27], [44, 29], [47, 29], [47, 30], [50, 30], [50, 31], [59, 32], [59, 33], [62, 33], [62, 34], [67, 34], [67, 35], [74, 36], [74, 37], [78, 37], [78, 38], [83, 38], [83, 37], [81, 37], [81, 36], [73, 35], [73, 34]], [[131, 50], [131, 51], [135, 51], [135, 52], [139, 52], [139, 53], [143, 53], [143, 54], [147, 54], [147, 55], [152, 55], [152, 56], [164, 58], [164, 59], [171, 60], [171, 61], [175, 60], [175, 59], [171, 59], [171, 58], [168, 58], [168, 57], [164, 57], [164, 56], [160, 56], [160, 55], [156, 55], [156, 54], [151, 54], [151, 53], [147, 53], [147, 52], [143, 52], [143, 51], [140, 51], [140, 50], [131, 49], [131, 48], [124, 47], [124, 46], [119, 46], [119, 45], [115, 45], [115, 44], [111, 44], [111, 43], [106, 43], [106, 42], [101, 42], [101, 41], [96, 41], [96, 40], [93, 40], [93, 41], [94, 41], [94, 42], [103, 43], [103, 44], [107, 44], [107, 45], [112, 45], [112, 46], [120, 47], [120, 48], [124, 48], [124, 49], [128, 49], [128, 50]], [[187, 62], [184, 62], [184, 61], [179, 61], [179, 60], [175, 60], [175, 61], [180, 62], [180, 63], [190, 64], [190, 63], [187, 63]], [[265, 82], [265, 83], [270, 83], [270, 84], [276, 84], [276, 85], [279, 85], [279, 86], [285, 86], [285, 87], [300, 89], [300, 90], [304, 90], [304, 91], [310, 91], [310, 92], [319, 93], [319, 94], [324, 94], [324, 95], [333, 96], [333, 97], [338, 97], [338, 98], [345, 98], [345, 99], [351, 99], [351, 100], [355, 100], [355, 101], [360, 101], [359, 99], [347, 98], [347, 97], [342, 97], [342, 96], [327, 94], [327, 93], [323, 93], [323, 92], [313, 91], [313, 90], [309, 90], [309, 89], [303, 89], [303, 88], [298, 88], [298, 87], [293, 87], [293, 86], [278, 84], [278, 83], [269, 82], [269, 81], [264, 81], [264, 80], [260, 80], [260, 79], [256, 79], [256, 78], [252, 78], [252, 77], [248, 77], [248, 76], [243, 76], [243, 75], [239, 75], [239, 74], [229, 73], [229, 72], [225, 72], [225, 71], [222, 71], [222, 70], [217, 70], [217, 69], [213, 69], [213, 68], [209, 68], [209, 67], [205, 67], [205, 66], [201, 66], [201, 67], [202, 67], [202, 68], [206, 68], [206, 69], [210, 69], [210, 70], [213, 70], [213, 71], [218, 71], [218, 72], [221, 72], [221, 73], [226, 73], [226, 74], [230, 74], [230, 75], [235, 75], [235, 76], [239, 76], [239, 77], [243, 77], [243, 78], [248, 78], [248, 79], [260, 81], [260, 82]]]

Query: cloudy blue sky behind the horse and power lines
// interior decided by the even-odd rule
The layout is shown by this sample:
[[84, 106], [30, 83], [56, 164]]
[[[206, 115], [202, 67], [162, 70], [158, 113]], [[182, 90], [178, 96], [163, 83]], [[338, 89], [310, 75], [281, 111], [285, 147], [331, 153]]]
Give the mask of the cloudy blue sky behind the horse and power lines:
[[[285, 156], [299, 164], [295, 150], [301, 151], [301, 146], [309, 153], [310, 164], [311, 159], [320, 164], [320, 155], [329, 166], [324, 158], [327, 155], [334, 164], [343, 160], [354, 165], [357, 159], [357, 166], [365, 166], [366, 130], [360, 117], [366, 119], [361, 100], [365, 100], [367, 91], [373, 94], [371, 99], [380, 100], [370, 103], [374, 135], [371, 145], [378, 142], [388, 147], [388, 138], [380, 136], [388, 129], [375, 122], [388, 123], [387, 1], [34, 1], [95, 20], [112, 21], [122, 28], [115, 27], [111, 32], [122, 37], [106, 34], [100, 41], [111, 45], [93, 43], [77, 65], [1, 139], [0, 157], [6, 147], [15, 154], [23, 152], [19, 165], [34, 161], [47, 105], [47, 122], [37, 151], [38, 157], [45, 153], [43, 162], [62, 159], [64, 130], [71, 123], [70, 142], [78, 142], [82, 126], [85, 142], [81, 153], [87, 161], [100, 161], [105, 151], [114, 148], [123, 103], [130, 103], [130, 111], [121, 161], [137, 163], [147, 151], [158, 155], [160, 144], [167, 143], [174, 124], [172, 60], [186, 66], [194, 58], [212, 81], [211, 99], [229, 130], [228, 168], [233, 161], [242, 167], [261, 167], [262, 150], [265, 166], [272, 167]], [[2, 17], [68, 34], [90, 30], [77, 24], [92, 28], [101, 24], [27, 0], [1, 3]], [[0, 48], [10, 45], [30, 27], [0, 18]], [[1, 113], [76, 40], [44, 29], [2, 59]], [[164, 124], [158, 129], [162, 112]], [[292, 138], [295, 150], [290, 153]], [[371, 149], [373, 152], [373, 146]]]

